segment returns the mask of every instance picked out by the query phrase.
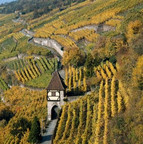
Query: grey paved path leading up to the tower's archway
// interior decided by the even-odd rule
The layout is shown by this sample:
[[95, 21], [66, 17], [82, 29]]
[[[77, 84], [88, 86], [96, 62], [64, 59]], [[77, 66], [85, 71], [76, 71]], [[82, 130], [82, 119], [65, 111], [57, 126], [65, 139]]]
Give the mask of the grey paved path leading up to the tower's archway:
[[42, 135], [41, 144], [52, 144], [52, 136], [57, 124], [57, 119], [52, 120], [46, 129], [46, 132]]

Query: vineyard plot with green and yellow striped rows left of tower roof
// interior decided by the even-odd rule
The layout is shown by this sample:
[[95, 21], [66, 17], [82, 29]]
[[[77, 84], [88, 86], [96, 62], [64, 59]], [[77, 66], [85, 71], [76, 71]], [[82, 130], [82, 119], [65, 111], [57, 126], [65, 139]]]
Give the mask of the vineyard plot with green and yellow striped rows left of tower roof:
[[[30, 85], [34, 84], [34, 80], [40, 80], [45, 73], [51, 78], [51, 74], [57, 70], [58, 62], [57, 59], [46, 59], [45, 57], [36, 59], [28, 59], [27, 61], [15, 61], [12, 63], [12, 68], [14, 68], [15, 76], [18, 81], [23, 84], [28, 84], [33, 81]], [[47, 76], [47, 75], [45, 75]], [[49, 78], [47, 79], [49, 81]], [[48, 83], [48, 81], [46, 82]], [[47, 86], [47, 83], [45, 87]], [[37, 84], [37, 82], [36, 82]], [[37, 85], [38, 87], [39, 85]]]

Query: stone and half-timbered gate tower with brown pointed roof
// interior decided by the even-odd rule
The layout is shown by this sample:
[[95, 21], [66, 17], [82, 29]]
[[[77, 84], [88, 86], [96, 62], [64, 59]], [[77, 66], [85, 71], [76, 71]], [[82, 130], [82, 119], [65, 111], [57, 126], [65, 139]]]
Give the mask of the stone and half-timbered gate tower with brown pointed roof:
[[53, 73], [53, 77], [47, 88], [47, 109], [48, 120], [52, 120], [58, 117], [59, 109], [64, 105], [65, 85], [56, 71]]

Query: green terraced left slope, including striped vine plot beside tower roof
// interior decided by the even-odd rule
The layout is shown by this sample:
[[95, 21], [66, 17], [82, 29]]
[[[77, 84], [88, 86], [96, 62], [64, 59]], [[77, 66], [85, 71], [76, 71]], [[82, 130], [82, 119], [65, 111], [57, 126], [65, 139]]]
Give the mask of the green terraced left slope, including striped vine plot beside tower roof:
[[[16, 71], [22, 71], [22, 69], [24, 70], [28, 68], [28, 76], [26, 77], [29, 77], [29, 73], [31, 73], [30, 78], [26, 78], [22, 71], [26, 80], [21, 81], [25, 82], [27, 80], [31, 80], [28, 81], [26, 85], [36, 87], [36, 84], [39, 84], [38, 81], [46, 78], [47, 81], [45, 83], [42, 85], [37, 85], [37, 87], [40, 88], [46, 87], [51, 78], [51, 73], [57, 69], [56, 58], [54, 58], [48, 49], [33, 45], [28, 42], [29, 38], [24, 36], [24, 34], [21, 32], [21, 30], [24, 28], [24, 25], [13, 20], [15, 19], [15, 14], [1, 14], [0, 16], [0, 75], [2, 76], [2, 79], [7, 83], [7, 85], [17, 85], [19, 82], [15, 81], [15, 79], [17, 79], [17, 75], [15, 75], [17, 74]], [[40, 58], [42, 56], [43, 58], [41, 58], [40, 61], [37, 60], [36, 62], [34, 60], [34, 58]], [[31, 57], [33, 60], [30, 60], [28, 57]], [[45, 62], [42, 65], [41, 62], [43, 62], [43, 60]], [[49, 68], [46, 62], [49, 63]], [[32, 63], [34, 63], [34, 65], [32, 65]], [[43, 68], [45, 64], [45, 68], [47, 69], [39, 70], [39, 67]], [[27, 68], [25, 65], [27, 65]], [[48, 69], [49, 72], [46, 73]], [[37, 73], [35, 71], [37, 71]], [[39, 78], [39, 76], [41, 78]], [[23, 76], [20, 77], [22, 79]], [[35, 80], [35, 78], [37, 79]], [[2, 89], [4, 90], [7, 88], [5, 87]]]

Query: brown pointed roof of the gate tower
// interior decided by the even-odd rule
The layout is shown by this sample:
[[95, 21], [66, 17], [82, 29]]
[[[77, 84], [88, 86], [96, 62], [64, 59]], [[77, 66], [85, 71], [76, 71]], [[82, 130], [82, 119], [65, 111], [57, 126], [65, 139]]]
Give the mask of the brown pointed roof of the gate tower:
[[65, 90], [65, 86], [57, 71], [53, 73], [53, 77], [47, 87], [47, 90]]

